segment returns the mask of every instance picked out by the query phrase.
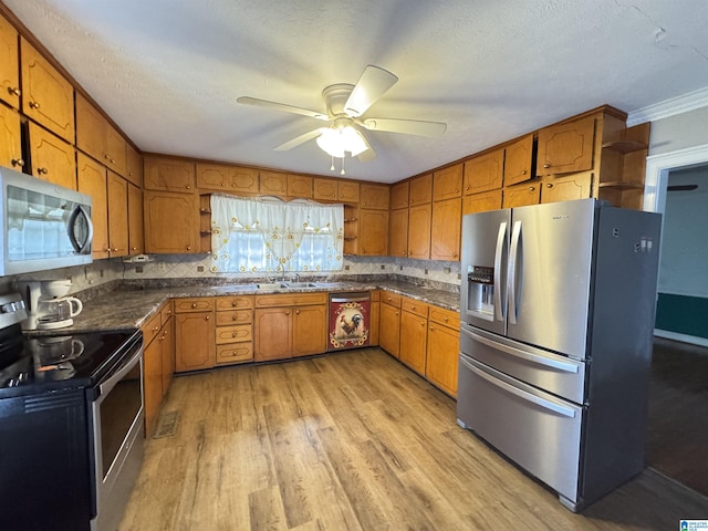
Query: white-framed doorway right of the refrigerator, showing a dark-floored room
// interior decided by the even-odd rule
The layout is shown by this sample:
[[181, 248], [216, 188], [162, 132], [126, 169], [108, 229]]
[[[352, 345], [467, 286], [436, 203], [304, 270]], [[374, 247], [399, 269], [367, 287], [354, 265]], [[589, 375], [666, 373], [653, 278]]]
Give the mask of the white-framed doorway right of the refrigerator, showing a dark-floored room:
[[689, 308], [708, 300], [708, 145], [648, 157], [646, 190], [645, 210], [664, 214], [646, 461], [708, 497], [708, 320]]

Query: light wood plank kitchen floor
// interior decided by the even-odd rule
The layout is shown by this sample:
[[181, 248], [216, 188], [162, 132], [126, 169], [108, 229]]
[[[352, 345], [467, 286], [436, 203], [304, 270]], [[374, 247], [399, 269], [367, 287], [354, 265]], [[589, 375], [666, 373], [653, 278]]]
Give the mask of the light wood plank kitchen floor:
[[121, 525], [140, 530], [671, 530], [708, 499], [647, 470], [573, 514], [378, 348], [176, 378]]

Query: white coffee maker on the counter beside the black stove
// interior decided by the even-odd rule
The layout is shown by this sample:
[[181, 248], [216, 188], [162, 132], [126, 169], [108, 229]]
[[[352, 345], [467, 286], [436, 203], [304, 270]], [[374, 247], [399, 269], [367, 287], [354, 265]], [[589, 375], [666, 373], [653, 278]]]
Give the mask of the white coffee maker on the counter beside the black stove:
[[54, 330], [74, 324], [73, 317], [83, 310], [81, 300], [65, 296], [71, 290], [71, 280], [44, 280], [18, 282], [24, 299], [28, 319], [22, 330]]

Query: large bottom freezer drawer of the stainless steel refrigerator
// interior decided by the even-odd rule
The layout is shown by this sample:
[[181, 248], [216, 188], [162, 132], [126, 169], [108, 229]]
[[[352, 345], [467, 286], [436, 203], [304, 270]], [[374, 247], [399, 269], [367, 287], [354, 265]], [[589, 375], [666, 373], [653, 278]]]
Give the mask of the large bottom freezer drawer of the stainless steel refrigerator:
[[577, 502], [583, 408], [465, 355], [457, 393], [461, 426], [550, 486], [569, 506]]

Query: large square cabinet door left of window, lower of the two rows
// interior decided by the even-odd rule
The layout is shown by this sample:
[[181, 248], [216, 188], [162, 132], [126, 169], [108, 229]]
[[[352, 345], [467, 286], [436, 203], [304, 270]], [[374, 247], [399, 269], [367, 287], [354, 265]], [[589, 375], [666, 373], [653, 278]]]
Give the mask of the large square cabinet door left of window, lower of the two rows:
[[198, 252], [197, 198], [187, 194], [145, 191], [145, 252]]

